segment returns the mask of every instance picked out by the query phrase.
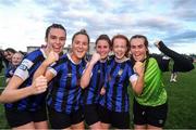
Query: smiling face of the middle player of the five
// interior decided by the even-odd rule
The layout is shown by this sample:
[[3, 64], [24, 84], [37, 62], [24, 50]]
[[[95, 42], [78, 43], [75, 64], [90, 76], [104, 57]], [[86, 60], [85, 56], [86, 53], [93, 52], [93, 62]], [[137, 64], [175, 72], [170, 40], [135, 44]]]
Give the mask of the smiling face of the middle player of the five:
[[110, 46], [107, 40], [98, 40], [96, 44], [96, 51], [100, 54], [101, 60], [106, 60], [109, 52], [110, 52]]

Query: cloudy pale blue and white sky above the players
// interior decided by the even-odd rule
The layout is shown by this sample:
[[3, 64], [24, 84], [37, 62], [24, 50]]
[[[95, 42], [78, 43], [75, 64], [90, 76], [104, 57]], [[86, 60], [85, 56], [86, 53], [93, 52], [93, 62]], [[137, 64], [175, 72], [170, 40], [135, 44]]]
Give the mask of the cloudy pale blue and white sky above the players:
[[196, 53], [196, 0], [0, 0], [0, 48], [26, 51], [45, 44], [52, 23], [74, 32], [85, 28], [90, 41], [101, 34], [145, 35], [181, 53]]

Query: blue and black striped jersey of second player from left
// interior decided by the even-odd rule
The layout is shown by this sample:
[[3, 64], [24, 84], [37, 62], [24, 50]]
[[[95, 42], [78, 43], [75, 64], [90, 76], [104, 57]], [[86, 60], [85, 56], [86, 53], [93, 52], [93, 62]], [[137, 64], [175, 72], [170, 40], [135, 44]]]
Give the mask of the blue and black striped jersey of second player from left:
[[47, 104], [57, 112], [70, 114], [81, 107], [81, 77], [86, 62], [75, 64], [69, 54], [64, 54], [49, 70], [56, 75], [54, 86], [48, 95]]

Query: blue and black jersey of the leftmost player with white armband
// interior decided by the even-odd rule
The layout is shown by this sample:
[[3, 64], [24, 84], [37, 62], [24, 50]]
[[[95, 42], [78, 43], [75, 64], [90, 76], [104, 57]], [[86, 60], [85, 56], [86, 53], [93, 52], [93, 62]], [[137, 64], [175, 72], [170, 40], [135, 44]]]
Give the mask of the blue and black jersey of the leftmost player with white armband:
[[[46, 54], [41, 49], [33, 51], [24, 57], [21, 65], [16, 68], [14, 73], [15, 76], [19, 76], [24, 80], [20, 88], [29, 87], [32, 84], [34, 73], [45, 61], [45, 58]], [[46, 92], [37, 95], [27, 96], [14, 103], [8, 103], [5, 104], [5, 107], [11, 109], [27, 109], [34, 112], [45, 105], [45, 98]]]

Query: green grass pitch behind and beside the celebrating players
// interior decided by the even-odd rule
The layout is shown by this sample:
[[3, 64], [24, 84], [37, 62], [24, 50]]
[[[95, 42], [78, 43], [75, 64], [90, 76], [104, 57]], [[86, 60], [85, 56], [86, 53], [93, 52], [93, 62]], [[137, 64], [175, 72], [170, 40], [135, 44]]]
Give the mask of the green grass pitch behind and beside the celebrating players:
[[[176, 83], [169, 82], [170, 73], [166, 73], [163, 79], [169, 98], [169, 113], [164, 129], [196, 129], [196, 69], [185, 74], [180, 73]], [[0, 79], [0, 84], [4, 84], [4, 79]], [[132, 99], [131, 95], [131, 102]], [[131, 126], [133, 128], [132, 122]], [[9, 127], [3, 105], [0, 104], [0, 129], [2, 128]]]

